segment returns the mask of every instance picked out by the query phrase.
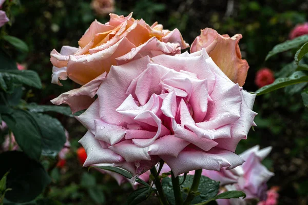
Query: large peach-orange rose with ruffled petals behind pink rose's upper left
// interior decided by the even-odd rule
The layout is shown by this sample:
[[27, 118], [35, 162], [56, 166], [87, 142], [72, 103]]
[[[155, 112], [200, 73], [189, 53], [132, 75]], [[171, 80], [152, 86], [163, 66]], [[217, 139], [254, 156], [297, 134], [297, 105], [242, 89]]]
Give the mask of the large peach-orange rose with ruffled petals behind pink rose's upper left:
[[79, 40], [79, 48], [64, 46], [61, 52], [50, 54], [52, 83], [61, 85], [59, 79], [67, 77], [85, 85], [111, 65], [121, 65], [130, 60], [149, 55], [150, 57], [181, 53], [188, 47], [178, 29], [163, 30], [154, 23], [149, 26], [144, 20], [136, 20], [132, 13], [124, 17], [110, 14], [110, 20], [101, 24], [95, 20]]

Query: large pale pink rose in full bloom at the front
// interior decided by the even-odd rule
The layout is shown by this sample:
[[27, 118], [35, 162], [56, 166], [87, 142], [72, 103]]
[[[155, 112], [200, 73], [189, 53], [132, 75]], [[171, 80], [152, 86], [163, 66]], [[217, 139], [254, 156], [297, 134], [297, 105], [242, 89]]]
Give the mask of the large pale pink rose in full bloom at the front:
[[175, 175], [233, 169], [254, 125], [255, 95], [234, 84], [203, 49], [112, 66], [79, 117], [84, 166], [113, 163], [140, 175], [163, 159]]

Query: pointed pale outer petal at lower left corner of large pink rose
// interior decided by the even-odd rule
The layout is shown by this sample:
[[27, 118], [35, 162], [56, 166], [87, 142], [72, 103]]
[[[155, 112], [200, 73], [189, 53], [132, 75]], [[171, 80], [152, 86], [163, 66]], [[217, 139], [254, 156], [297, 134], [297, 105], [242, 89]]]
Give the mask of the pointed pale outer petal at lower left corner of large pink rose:
[[87, 152], [87, 159], [84, 163], [84, 167], [97, 163], [114, 163], [123, 160], [120, 155], [115, 154], [110, 149], [102, 148], [99, 141], [94, 138], [94, 135], [90, 131], [88, 131], [79, 142]]

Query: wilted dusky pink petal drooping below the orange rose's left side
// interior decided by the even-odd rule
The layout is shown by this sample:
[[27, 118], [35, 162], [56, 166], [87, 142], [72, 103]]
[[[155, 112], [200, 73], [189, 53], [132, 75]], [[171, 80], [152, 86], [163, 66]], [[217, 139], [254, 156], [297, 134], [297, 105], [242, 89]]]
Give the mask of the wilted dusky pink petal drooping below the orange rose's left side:
[[70, 90], [54, 98], [51, 103], [55, 105], [67, 104], [70, 106], [72, 113], [87, 109], [93, 103], [93, 97], [105, 77], [106, 73], [103, 73], [81, 88]]

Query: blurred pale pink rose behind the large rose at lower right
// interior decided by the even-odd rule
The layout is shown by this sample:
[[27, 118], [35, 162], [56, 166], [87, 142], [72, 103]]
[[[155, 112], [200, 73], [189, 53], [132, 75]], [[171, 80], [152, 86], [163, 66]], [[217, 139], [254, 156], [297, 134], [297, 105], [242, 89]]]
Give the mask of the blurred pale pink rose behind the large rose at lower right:
[[266, 182], [274, 176], [274, 173], [269, 172], [261, 161], [271, 150], [272, 147], [260, 150], [259, 146], [255, 146], [239, 155], [245, 160], [241, 166], [231, 170], [221, 170], [221, 172], [208, 170], [202, 172], [211, 179], [221, 181], [220, 185], [225, 186], [227, 191], [238, 190], [246, 194], [245, 199], [218, 200], [219, 205], [239, 205], [246, 204], [245, 201], [249, 199], [266, 199]]

